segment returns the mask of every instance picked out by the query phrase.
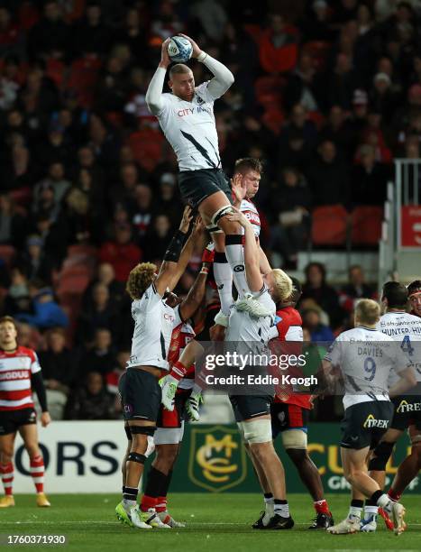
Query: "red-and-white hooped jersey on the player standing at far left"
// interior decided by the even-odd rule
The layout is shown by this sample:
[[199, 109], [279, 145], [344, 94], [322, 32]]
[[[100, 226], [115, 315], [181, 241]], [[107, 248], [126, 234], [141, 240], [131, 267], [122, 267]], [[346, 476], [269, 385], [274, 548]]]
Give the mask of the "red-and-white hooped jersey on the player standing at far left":
[[33, 408], [31, 375], [40, 371], [32, 349], [17, 347], [14, 353], [0, 349], [0, 410]]

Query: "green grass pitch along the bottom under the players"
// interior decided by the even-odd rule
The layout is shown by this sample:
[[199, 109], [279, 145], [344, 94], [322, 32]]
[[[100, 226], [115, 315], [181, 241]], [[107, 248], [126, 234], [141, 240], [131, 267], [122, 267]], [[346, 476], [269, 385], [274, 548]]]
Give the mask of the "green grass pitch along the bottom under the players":
[[[64, 549], [75, 551], [114, 552], [237, 552], [288, 550], [420, 550], [421, 496], [408, 496], [408, 529], [396, 537], [380, 520], [374, 534], [328, 535], [307, 529], [314, 515], [306, 494], [291, 494], [289, 504], [296, 521], [294, 529], [260, 531], [251, 529], [261, 509], [258, 494], [173, 494], [170, 510], [177, 520], [186, 521], [186, 529], [130, 529], [119, 523], [114, 508], [119, 495], [61, 494], [50, 495], [50, 509], [36, 508], [33, 495], [16, 496], [16, 506], [0, 510], [2, 548], [5, 535], [66, 535], [68, 545], [36, 546], [37, 550]], [[327, 497], [335, 520], [342, 520], [348, 511], [349, 497]], [[27, 548], [27, 547], [26, 547]]]

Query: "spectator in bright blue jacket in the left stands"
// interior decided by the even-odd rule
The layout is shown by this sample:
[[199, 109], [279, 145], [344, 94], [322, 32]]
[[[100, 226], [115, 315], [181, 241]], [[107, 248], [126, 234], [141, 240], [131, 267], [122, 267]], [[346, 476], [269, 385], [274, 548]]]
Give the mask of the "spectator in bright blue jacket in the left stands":
[[16, 319], [28, 322], [41, 330], [49, 327], [67, 327], [69, 318], [59, 304], [55, 301], [53, 291], [41, 280], [32, 280], [29, 284], [29, 292], [32, 298], [32, 312], [21, 313]]

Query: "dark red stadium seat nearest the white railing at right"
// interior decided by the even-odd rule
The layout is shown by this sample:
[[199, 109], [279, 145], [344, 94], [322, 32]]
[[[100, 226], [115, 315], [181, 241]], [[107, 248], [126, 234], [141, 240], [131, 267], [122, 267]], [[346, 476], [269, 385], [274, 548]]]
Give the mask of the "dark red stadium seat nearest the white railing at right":
[[352, 245], [378, 245], [383, 221], [383, 207], [355, 207], [351, 214]]

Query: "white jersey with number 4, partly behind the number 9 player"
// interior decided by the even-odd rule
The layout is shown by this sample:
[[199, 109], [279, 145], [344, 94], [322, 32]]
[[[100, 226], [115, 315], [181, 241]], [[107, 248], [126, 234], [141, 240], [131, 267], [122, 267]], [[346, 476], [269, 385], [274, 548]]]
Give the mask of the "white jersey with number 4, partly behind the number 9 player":
[[[413, 361], [416, 369], [416, 380], [421, 382], [421, 343], [411, 345], [413, 341], [421, 342], [421, 318], [405, 311], [387, 312], [377, 324], [377, 329], [394, 341], [400, 342], [404, 353]], [[389, 387], [398, 382], [398, 375], [390, 373]]]

